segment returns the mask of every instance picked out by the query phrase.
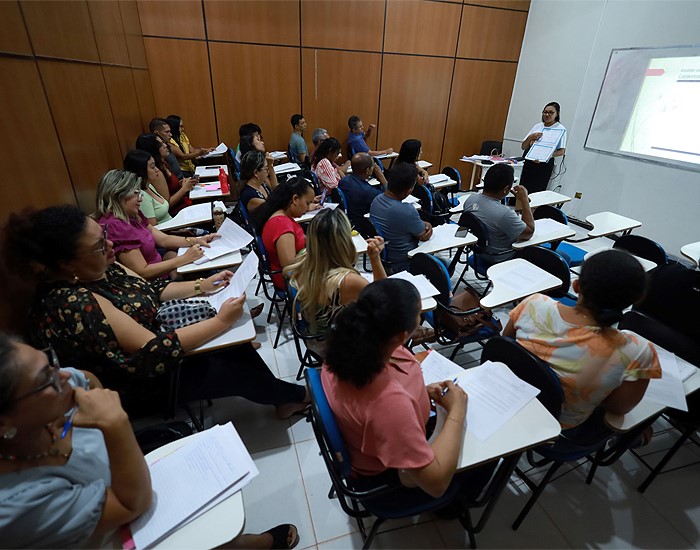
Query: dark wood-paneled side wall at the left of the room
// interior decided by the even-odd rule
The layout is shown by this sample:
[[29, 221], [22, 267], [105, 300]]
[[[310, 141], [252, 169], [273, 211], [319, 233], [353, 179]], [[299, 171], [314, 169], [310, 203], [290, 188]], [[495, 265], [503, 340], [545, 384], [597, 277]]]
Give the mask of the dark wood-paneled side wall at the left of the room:
[[100, 176], [155, 116], [136, 0], [0, 2], [0, 74], [13, 166], [0, 221], [59, 203], [91, 212]]

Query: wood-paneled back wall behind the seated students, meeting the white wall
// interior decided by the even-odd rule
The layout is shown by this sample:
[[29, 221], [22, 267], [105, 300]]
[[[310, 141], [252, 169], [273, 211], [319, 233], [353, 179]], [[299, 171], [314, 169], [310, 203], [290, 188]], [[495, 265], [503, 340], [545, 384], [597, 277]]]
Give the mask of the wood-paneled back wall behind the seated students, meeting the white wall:
[[434, 171], [501, 139], [529, 0], [138, 0], [157, 112], [198, 145], [238, 142], [256, 122], [286, 150], [303, 113], [344, 142], [347, 120], [377, 124], [371, 147], [423, 142]]

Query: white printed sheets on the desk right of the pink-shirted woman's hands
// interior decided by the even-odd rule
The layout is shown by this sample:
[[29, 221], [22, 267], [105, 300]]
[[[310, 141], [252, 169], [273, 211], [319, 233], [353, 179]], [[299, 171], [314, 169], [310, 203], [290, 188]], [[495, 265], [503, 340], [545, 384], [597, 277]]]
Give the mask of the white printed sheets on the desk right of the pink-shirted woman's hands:
[[[458, 383], [469, 395], [467, 431], [486, 441], [540, 390], [524, 382], [502, 363], [487, 361], [476, 372], [463, 371]], [[471, 370], [471, 369], [470, 369]]]

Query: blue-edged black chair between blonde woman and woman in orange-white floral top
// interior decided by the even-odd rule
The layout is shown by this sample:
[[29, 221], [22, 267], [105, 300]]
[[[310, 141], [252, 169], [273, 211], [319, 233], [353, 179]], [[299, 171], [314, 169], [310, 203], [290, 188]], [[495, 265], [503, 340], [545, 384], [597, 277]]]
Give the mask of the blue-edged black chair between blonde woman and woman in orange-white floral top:
[[440, 291], [440, 294], [435, 296], [437, 310], [426, 314], [426, 320], [435, 330], [435, 335], [439, 344], [445, 346], [456, 344], [454, 350], [452, 350], [450, 359], [454, 359], [455, 355], [457, 355], [459, 350], [461, 350], [465, 345], [471, 343], [483, 345], [484, 341], [492, 338], [493, 336], [497, 336], [500, 333], [500, 329], [498, 327], [491, 328], [484, 326], [475, 334], [456, 334], [454, 331], [443, 325], [442, 317], [444, 315], [467, 317], [468, 315], [478, 311], [483, 311], [483, 309], [481, 307], [477, 307], [469, 311], [462, 311], [450, 306], [452, 301], [450, 276], [447, 272], [445, 264], [443, 264], [440, 260], [430, 256], [429, 254], [418, 253], [411, 258], [411, 264], [408, 267], [408, 271], [413, 275], [425, 275], [430, 283]]

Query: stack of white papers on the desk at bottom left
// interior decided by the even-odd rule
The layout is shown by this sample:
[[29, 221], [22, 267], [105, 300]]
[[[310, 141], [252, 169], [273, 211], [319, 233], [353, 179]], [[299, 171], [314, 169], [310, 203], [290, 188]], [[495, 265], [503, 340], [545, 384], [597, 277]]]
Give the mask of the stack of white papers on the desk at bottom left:
[[149, 457], [153, 503], [131, 523], [138, 549], [156, 544], [258, 475], [230, 422], [188, 437], [182, 447], [160, 459]]

